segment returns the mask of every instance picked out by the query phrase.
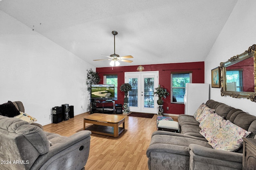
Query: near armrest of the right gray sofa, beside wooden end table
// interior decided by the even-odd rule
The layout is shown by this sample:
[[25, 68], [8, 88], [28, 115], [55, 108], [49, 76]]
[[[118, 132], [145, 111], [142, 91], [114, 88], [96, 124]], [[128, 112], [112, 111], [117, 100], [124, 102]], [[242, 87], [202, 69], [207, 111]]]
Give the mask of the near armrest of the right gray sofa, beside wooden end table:
[[190, 169], [205, 166], [209, 169], [242, 169], [243, 154], [216, 150], [196, 144], [189, 145]]

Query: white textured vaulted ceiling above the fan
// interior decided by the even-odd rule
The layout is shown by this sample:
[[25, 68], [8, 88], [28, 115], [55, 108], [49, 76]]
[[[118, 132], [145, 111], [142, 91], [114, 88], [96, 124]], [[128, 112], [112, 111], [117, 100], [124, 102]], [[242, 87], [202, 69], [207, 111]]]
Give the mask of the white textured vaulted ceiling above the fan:
[[204, 61], [237, 0], [2, 0], [0, 10], [95, 67]]

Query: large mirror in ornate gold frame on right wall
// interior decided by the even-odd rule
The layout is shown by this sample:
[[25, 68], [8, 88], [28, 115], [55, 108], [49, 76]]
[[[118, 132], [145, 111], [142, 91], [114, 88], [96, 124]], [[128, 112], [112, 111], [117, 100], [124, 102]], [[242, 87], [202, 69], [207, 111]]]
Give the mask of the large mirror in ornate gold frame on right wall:
[[221, 96], [256, 102], [256, 45], [220, 63]]

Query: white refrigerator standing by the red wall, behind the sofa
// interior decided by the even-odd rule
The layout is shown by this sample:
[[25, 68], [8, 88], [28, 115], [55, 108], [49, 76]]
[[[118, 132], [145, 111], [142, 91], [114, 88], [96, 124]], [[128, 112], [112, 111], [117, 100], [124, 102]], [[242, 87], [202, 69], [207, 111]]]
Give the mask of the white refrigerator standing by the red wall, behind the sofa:
[[200, 104], [209, 100], [210, 84], [206, 83], [186, 83], [184, 104], [185, 115], [194, 115]]

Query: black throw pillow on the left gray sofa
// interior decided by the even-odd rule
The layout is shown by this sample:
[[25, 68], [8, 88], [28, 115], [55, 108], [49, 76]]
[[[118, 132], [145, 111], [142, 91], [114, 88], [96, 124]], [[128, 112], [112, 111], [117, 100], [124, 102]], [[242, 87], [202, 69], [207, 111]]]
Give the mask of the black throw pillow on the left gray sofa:
[[16, 106], [11, 101], [0, 105], [0, 115], [14, 117], [19, 114], [20, 111], [18, 111]]

